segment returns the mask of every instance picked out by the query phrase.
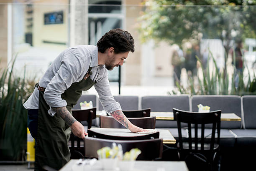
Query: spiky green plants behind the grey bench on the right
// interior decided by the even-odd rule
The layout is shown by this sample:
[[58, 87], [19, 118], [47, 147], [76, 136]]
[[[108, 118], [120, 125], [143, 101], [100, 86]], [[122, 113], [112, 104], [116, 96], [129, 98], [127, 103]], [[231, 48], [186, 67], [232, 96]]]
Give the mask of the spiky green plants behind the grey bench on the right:
[[[251, 75], [248, 74], [248, 81], [244, 83], [244, 75], [242, 74], [244, 71], [244, 67], [240, 72], [236, 69], [234, 70], [233, 75], [229, 78], [227, 72], [220, 73], [218, 70], [215, 59], [210, 53], [214, 68], [212, 72], [210, 72], [209, 66], [209, 58], [207, 61], [206, 69], [204, 70], [202, 66], [201, 60], [197, 57], [197, 60], [200, 62], [200, 68], [204, 71], [202, 80], [197, 77], [197, 82], [191, 77], [188, 81], [188, 86], [184, 87], [178, 81], [176, 81], [177, 90], [173, 90], [173, 94], [181, 93], [181, 94], [190, 94], [190, 95], [256, 95], [256, 76], [253, 74], [253, 78], [251, 81]], [[235, 59], [235, 57], [233, 57]], [[225, 65], [227, 65], [225, 63]], [[248, 67], [246, 66], [246, 69]], [[231, 81], [229, 81], [231, 79]], [[168, 94], [172, 94], [168, 92]]]

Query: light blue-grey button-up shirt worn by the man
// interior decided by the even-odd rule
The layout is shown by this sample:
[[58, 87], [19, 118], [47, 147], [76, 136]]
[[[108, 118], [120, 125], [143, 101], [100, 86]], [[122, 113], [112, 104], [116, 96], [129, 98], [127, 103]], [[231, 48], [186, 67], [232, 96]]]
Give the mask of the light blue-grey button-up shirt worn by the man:
[[[115, 101], [110, 91], [108, 72], [105, 65], [98, 65], [98, 48], [94, 45], [78, 45], [67, 48], [51, 63], [43, 77], [39, 81], [41, 87], [46, 87], [44, 99], [50, 106], [49, 114], [54, 116], [51, 107], [67, 106], [67, 102], [61, 98], [61, 94], [72, 83], [79, 82], [86, 75], [89, 67], [92, 67], [93, 81], [100, 102], [107, 113], [121, 110], [121, 106]], [[39, 90], [34, 89], [32, 95], [24, 103], [26, 109], [38, 109]]]

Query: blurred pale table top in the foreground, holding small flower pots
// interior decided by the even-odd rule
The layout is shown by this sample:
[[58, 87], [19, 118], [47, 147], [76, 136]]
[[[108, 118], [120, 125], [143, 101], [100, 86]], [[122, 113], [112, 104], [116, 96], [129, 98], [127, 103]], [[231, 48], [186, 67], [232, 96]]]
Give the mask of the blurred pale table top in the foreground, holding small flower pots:
[[[78, 165], [77, 162], [78, 162], [78, 159], [70, 160], [65, 166], [63, 166], [60, 169], [60, 171], [102, 171], [102, 162], [100, 160], [97, 160], [96, 163], [92, 166], [82, 165], [82, 164]], [[119, 170], [122, 171], [122, 169], [119, 169]], [[131, 170], [132, 171], [189, 171], [185, 161], [134, 161], [134, 166]]]

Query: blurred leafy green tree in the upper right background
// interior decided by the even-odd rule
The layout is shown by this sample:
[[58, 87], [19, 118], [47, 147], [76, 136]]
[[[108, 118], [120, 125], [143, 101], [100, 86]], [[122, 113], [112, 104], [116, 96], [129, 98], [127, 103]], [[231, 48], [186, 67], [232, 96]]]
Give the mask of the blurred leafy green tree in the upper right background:
[[[141, 40], [166, 40], [170, 44], [219, 38], [225, 63], [231, 40], [256, 38], [256, 0], [145, 0], [141, 15]], [[225, 65], [226, 66], [226, 65]], [[224, 68], [224, 72], [226, 68]]]

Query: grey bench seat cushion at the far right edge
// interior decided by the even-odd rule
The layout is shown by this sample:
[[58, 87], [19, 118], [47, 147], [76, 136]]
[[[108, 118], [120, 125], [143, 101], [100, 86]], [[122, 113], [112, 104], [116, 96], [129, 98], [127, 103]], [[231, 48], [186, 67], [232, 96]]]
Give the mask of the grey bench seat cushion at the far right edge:
[[232, 129], [236, 134], [236, 146], [256, 147], [256, 129]]

